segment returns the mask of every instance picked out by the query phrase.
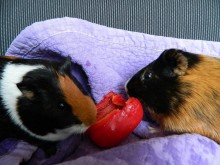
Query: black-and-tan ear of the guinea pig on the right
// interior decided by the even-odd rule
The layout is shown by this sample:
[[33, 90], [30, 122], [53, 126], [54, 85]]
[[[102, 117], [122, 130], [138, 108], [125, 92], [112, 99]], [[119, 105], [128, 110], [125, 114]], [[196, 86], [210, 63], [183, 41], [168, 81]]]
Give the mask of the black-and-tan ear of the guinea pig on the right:
[[165, 50], [162, 54], [165, 64], [163, 74], [168, 77], [182, 76], [188, 68], [188, 58], [178, 49]]

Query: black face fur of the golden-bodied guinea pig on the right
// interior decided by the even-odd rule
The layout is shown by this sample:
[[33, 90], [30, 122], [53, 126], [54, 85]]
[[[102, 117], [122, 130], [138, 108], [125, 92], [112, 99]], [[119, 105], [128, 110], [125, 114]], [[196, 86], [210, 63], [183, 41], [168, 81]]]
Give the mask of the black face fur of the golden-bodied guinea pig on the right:
[[[158, 59], [136, 73], [128, 82], [128, 94], [139, 98], [156, 113], [170, 114], [184, 103], [190, 96], [190, 83], [180, 82], [180, 78], [173, 74], [177, 66], [172, 56], [168, 60], [164, 56], [179, 53], [187, 58], [188, 69], [199, 63], [197, 55], [170, 49], [164, 51]], [[184, 90], [182, 90], [184, 89]]]

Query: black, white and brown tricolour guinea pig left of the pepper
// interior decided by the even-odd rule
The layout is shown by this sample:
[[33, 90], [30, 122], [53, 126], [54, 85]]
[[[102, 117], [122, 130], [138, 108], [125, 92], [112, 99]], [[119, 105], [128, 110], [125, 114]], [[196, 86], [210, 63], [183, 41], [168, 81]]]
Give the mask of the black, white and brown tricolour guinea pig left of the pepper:
[[55, 152], [57, 141], [85, 132], [95, 120], [95, 103], [71, 75], [70, 57], [0, 57], [1, 140], [18, 138]]

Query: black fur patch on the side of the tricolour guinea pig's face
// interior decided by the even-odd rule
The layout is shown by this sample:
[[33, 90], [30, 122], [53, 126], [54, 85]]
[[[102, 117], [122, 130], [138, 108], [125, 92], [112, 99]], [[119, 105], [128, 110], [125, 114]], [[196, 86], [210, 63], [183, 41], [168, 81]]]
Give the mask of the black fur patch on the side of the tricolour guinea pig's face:
[[[33, 92], [33, 98], [18, 99], [18, 113], [23, 124], [38, 135], [64, 129], [81, 122], [65, 102], [53, 70], [37, 69], [27, 73], [18, 84], [21, 90]], [[30, 111], [31, 110], [31, 111]]]

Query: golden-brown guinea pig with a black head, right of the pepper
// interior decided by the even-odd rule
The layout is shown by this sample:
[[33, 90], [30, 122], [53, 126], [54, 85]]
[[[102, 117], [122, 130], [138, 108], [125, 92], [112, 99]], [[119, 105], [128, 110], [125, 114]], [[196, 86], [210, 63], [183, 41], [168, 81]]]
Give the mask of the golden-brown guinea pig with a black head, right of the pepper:
[[220, 60], [165, 50], [126, 84], [163, 131], [198, 133], [220, 143]]

